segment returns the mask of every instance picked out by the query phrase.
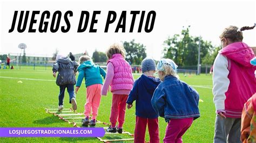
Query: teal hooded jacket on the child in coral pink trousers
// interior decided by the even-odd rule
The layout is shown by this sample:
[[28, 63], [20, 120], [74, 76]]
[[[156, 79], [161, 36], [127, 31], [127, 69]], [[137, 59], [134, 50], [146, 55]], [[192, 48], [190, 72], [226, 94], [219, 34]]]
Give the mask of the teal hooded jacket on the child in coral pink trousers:
[[83, 62], [82, 65], [77, 68], [77, 70], [79, 71], [79, 75], [77, 78], [76, 87], [80, 87], [84, 78], [86, 88], [93, 84], [103, 84], [102, 76], [104, 79], [106, 76], [105, 70], [98, 65], [95, 65], [92, 61]]

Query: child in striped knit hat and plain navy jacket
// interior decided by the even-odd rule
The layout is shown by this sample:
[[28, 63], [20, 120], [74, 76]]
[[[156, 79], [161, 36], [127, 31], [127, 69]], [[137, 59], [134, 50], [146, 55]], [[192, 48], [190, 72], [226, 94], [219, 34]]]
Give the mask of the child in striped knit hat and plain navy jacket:
[[127, 108], [132, 107], [136, 100], [136, 125], [134, 130], [134, 142], [145, 142], [146, 126], [149, 128], [150, 142], [159, 142], [158, 115], [151, 105], [151, 98], [160, 79], [154, 77], [156, 63], [153, 59], [142, 61], [142, 76], [133, 85], [126, 101]]

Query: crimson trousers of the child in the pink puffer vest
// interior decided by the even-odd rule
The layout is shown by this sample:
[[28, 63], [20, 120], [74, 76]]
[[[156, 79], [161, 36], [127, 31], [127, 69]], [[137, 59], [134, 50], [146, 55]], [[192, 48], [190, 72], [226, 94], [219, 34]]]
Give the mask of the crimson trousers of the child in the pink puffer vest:
[[118, 128], [123, 127], [127, 98], [128, 98], [128, 95], [117, 95], [117, 94], [113, 95], [111, 113], [110, 113], [110, 123], [112, 127], [116, 126], [117, 119], [118, 119]]

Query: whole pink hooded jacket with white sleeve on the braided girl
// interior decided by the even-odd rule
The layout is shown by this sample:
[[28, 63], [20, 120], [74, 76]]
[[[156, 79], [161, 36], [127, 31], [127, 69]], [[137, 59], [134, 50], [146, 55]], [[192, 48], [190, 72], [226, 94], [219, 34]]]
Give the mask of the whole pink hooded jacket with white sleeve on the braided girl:
[[227, 45], [213, 64], [213, 101], [216, 110], [230, 118], [241, 118], [246, 101], [256, 92], [252, 48], [244, 42]]

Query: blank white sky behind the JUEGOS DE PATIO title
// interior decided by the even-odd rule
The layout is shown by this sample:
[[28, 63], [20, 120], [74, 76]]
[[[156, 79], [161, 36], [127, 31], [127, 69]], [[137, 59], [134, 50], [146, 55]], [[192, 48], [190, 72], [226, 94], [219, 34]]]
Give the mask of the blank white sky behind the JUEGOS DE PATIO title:
[[[212, 41], [213, 45], [219, 45], [219, 35], [223, 29], [229, 25], [253, 26], [256, 23], [256, 2], [254, 1], [215, 1], [215, 2], [199, 2], [199, 1], [130, 1], [130, 2], [82, 2], [82, 1], [1, 1], [0, 10], [0, 54], [2, 53], [18, 53], [18, 44], [25, 43], [27, 45], [26, 54], [48, 55], [51, 56], [55, 49], [62, 54], [72, 52], [83, 53], [85, 50], [92, 55], [97, 48], [98, 51], [105, 52], [106, 48], [113, 42], [130, 41], [135, 39], [146, 46], [147, 55], [159, 60], [163, 51], [163, 42], [167, 37], [173, 34], [180, 34], [183, 26], [191, 25], [190, 34], [199, 36], [203, 40]], [[23, 33], [17, 32], [18, 20], [16, 21], [15, 31], [8, 33], [11, 28], [14, 11], [29, 10], [29, 21], [26, 30]], [[33, 25], [36, 33], [28, 33], [29, 23], [32, 10], [39, 10], [40, 14], [36, 15], [37, 23]], [[38, 26], [43, 11], [51, 12], [48, 32], [39, 33]], [[62, 11], [62, 19], [60, 26], [66, 26], [64, 22], [64, 13], [68, 10], [73, 12], [73, 17], [69, 17], [71, 29], [68, 33], [62, 33], [60, 28], [58, 32], [50, 32], [50, 24], [53, 12]], [[83, 33], [77, 33], [80, 12], [89, 11], [90, 19], [87, 29]], [[97, 33], [89, 33], [89, 26], [93, 10], [100, 10], [100, 15], [96, 16], [98, 23]], [[110, 24], [109, 32], [104, 33], [106, 18], [108, 11], [117, 12], [117, 19]], [[123, 10], [126, 14], [126, 31], [114, 33], [120, 14]], [[157, 13], [154, 28], [151, 33], [144, 32], [146, 15], [144, 18], [143, 31], [137, 33], [139, 20], [141, 15], [137, 15], [133, 33], [129, 33], [131, 18], [130, 11], [154, 10]], [[140, 12], [141, 13], [141, 12]], [[19, 13], [18, 13], [19, 17]], [[256, 28], [254, 30], [244, 31], [244, 42], [250, 46], [256, 46]]]

